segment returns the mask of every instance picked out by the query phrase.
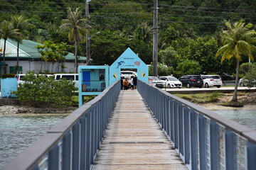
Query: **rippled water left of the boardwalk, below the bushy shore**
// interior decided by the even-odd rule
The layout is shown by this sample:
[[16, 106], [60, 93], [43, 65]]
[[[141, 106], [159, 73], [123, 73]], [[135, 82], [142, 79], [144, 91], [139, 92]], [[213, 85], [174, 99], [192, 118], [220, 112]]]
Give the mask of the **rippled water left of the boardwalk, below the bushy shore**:
[[0, 169], [65, 117], [46, 114], [0, 117]]

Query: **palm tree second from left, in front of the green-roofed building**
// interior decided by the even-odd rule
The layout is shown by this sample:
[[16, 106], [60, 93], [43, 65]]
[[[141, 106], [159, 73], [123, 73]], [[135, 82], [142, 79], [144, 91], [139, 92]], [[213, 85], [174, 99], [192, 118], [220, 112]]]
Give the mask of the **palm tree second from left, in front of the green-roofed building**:
[[25, 37], [25, 34], [28, 33], [28, 29], [32, 28], [32, 24], [28, 24], [28, 20], [25, 20], [23, 16], [12, 16], [11, 17], [11, 23], [13, 24], [14, 29], [18, 29], [19, 36], [15, 38], [17, 42], [17, 64], [15, 66], [15, 73], [18, 72], [18, 60], [19, 60], [19, 45], [22, 43], [23, 38]]

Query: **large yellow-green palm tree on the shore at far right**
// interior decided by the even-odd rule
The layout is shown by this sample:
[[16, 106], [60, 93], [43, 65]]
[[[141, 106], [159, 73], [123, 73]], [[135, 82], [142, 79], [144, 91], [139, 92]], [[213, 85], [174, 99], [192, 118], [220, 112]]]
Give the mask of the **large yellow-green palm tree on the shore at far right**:
[[225, 23], [228, 30], [223, 30], [221, 34], [221, 42], [223, 47], [220, 47], [216, 53], [216, 57], [222, 55], [221, 62], [224, 60], [230, 60], [235, 57], [236, 64], [236, 76], [235, 76], [235, 91], [232, 101], [238, 101], [238, 76], [239, 76], [239, 66], [241, 57], [249, 57], [253, 60], [252, 52], [256, 51], [256, 31], [249, 30], [252, 28], [252, 24], [242, 22], [236, 22], [233, 25], [228, 21]]

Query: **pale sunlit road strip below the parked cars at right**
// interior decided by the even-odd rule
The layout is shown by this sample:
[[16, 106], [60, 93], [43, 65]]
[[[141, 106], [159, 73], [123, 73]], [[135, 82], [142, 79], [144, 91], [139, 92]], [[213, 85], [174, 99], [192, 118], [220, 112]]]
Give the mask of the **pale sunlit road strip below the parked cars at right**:
[[[235, 90], [235, 86], [221, 86], [220, 88], [217, 88], [215, 86], [210, 86], [209, 88], [191, 87], [191, 88], [163, 89], [163, 90], [171, 93], [199, 93], [199, 92], [207, 92], [207, 91], [233, 92]], [[238, 86], [238, 91], [256, 91], [256, 87], [249, 88], [245, 86]]]

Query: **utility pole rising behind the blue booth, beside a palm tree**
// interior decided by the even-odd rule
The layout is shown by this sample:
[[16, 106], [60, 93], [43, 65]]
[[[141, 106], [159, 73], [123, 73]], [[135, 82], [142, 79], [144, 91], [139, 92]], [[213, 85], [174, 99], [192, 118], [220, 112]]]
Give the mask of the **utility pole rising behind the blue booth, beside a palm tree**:
[[89, 28], [89, 19], [90, 19], [90, 15], [89, 15], [89, 2], [91, 0], [85, 0], [85, 16], [88, 18], [88, 20], [86, 21], [86, 28], [87, 28], [87, 32], [86, 32], [86, 65], [90, 64], [90, 28]]

